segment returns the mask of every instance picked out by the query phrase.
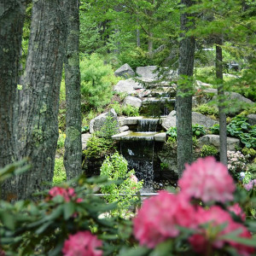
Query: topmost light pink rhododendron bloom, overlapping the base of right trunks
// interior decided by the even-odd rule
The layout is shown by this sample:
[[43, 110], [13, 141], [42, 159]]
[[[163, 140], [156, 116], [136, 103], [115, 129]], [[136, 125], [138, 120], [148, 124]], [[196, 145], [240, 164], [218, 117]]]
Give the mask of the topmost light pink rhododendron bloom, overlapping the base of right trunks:
[[228, 169], [213, 157], [198, 159], [186, 165], [178, 185], [182, 193], [201, 201], [230, 201], [236, 189]]

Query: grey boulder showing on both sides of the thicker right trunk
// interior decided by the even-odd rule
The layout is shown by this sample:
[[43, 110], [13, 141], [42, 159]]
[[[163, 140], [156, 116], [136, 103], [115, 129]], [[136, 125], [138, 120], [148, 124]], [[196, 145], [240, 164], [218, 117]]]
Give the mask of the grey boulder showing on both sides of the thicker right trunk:
[[[218, 124], [218, 122], [208, 118], [201, 113], [192, 112], [192, 124], [204, 125], [205, 127], [210, 128], [212, 125]], [[172, 112], [167, 115], [166, 119], [162, 122], [162, 126], [166, 129], [166, 131], [170, 127], [176, 126], [175, 110], [172, 110]]]

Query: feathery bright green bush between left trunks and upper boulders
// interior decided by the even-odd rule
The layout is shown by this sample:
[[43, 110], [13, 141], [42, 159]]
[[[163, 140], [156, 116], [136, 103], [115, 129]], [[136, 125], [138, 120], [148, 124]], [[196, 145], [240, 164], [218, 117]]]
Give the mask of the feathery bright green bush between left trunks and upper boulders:
[[80, 61], [81, 92], [92, 108], [103, 107], [111, 101], [112, 87], [118, 79], [110, 65], [105, 65], [99, 55], [93, 54]]

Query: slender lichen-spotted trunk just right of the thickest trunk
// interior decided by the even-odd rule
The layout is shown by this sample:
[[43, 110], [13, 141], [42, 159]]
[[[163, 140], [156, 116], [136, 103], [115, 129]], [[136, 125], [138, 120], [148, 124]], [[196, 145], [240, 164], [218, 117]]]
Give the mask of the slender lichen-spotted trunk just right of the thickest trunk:
[[67, 179], [82, 172], [81, 92], [79, 71], [79, 1], [67, 1], [67, 45], [65, 58], [66, 141], [64, 166]]

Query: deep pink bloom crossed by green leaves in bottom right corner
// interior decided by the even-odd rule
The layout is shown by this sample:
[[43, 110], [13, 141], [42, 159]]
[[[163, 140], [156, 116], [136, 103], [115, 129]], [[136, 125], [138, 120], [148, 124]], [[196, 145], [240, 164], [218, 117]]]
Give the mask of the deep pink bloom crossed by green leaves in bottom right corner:
[[[250, 253], [253, 252], [252, 247], [247, 247], [234, 241], [227, 241], [221, 237], [239, 229], [241, 229], [242, 232], [238, 236], [247, 238], [252, 237], [242, 224], [236, 223], [231, 218], [229, 212], [225, 212], [222, 208], [213, 206], [208, 210], [205, 210], [204, 208], [199, 207], [196, 214], [196, 223], [199, 226], [198, 233], [189, 237], [189, 242], [196, 253], [205, 254], [207, 248], [222, 248], [225, 243], [229, 243], [232, 247], [236, 247], [237, 252], [242, 256], [250, 255]], [[208, 224], [208, 226], [203, 227], [201, 226], [202, 224]], [[222, 224], [226, 224], [226, 226], [220, 228], [220, 225]]]

